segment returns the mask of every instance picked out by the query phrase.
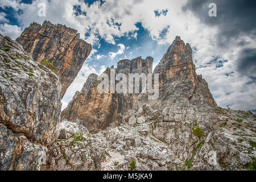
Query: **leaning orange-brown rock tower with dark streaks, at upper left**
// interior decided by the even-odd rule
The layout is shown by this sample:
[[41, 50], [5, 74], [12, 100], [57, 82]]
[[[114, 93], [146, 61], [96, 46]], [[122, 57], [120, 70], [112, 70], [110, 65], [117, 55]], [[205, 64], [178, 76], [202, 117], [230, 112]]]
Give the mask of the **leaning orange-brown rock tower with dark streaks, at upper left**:
[[39, 63], [53, 63], [55, 71], [60, 75], [61, 97], [92, 51], [92, 46], [80, 39], [76, 30], [47, 21], [42, 26], [32, 23], [25, 28], [16, 42]]

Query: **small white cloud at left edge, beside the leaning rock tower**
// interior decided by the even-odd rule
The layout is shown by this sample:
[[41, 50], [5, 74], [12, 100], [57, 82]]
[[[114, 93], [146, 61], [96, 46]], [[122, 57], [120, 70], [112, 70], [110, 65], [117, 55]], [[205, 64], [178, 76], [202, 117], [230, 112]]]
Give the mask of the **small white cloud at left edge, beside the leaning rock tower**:
[[0, 24], [0, 34], [10, 36], [11, 39], [16, 39], [22, 32], [22, 29], [16, 25]]

